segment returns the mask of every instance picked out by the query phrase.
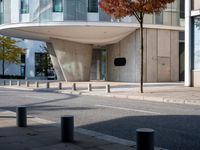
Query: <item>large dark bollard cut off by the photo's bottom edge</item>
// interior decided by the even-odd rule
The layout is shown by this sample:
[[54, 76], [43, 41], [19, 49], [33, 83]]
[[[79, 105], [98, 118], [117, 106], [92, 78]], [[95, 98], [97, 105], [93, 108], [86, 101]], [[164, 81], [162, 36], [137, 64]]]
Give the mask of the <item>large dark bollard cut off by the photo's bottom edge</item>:
[[136, 150], [154, 150], [154, 130], [141, 128], [136, 130]]

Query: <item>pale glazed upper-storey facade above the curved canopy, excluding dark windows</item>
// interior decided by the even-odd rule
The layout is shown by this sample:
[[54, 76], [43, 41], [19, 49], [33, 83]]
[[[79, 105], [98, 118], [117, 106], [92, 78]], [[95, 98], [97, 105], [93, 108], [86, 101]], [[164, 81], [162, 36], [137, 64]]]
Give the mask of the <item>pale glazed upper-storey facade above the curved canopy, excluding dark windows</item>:
[[[198, 0], [197, 0], [198, 1]], [[98, 8], [97, 12], [88, 11], [88, 0], [63, 0], [63, 10], [53, 12], [52, 0], [29, 0], [28, 13], [21, 14], [20, 0], [3, 0], [3, 23], [20, 22], [52, 22], [52, 21], [102, 21], [102, 22], [133, 22], [138, 23], [134, 17], [114, 19]], [[199, 3], [199, 2], [197, 2]], [[98, 3], [97, 3], [98, 4]], [[99, 6], [97, 6], [99, 7]], [[168, 4], [163, 12], [146, 15], [145, 24], [161, 24], [179, 26], [180, 0]]]

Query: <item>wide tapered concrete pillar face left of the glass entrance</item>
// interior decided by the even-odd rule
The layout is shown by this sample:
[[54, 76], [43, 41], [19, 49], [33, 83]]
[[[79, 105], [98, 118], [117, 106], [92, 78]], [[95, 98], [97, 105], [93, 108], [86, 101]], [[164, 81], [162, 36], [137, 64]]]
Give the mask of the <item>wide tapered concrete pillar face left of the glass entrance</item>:
[[66, 81], [89, 81], [92, 45], [51, 39]]

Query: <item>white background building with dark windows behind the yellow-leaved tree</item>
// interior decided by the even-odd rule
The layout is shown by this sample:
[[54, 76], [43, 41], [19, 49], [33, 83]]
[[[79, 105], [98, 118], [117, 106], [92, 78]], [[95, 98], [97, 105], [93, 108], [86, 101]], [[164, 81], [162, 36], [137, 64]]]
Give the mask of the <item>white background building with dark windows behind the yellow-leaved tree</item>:
[[[26, 53], [21, 55], [21, 64], [11, 64], [5, 62], [4, 74], [7, 77], [26, 79], [48, 79], [53, 78], [53, 69], [48, 60], [46, 44], [41, 41], [15, 39], [17, 46], [26, 49]], [[49, 65], [49, 66], [48, 66]], [[3, 74], [2, 61], [0, 61], [0, 75]]]

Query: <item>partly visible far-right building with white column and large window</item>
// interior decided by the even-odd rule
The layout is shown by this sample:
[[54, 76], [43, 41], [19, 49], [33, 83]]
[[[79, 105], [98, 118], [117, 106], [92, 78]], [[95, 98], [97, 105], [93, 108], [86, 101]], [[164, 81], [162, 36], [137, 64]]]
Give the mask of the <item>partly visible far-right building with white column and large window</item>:
[[200, 1], [185, 6], [185, 86], [200, 87]]

